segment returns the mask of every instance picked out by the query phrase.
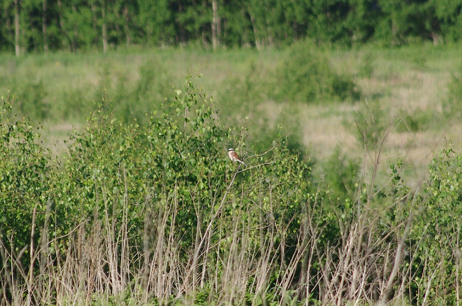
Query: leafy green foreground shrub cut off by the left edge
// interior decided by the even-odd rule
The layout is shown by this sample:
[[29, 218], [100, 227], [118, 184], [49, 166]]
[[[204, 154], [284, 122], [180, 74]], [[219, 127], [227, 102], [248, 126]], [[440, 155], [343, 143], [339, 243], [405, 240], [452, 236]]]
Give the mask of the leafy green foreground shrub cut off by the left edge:
[[[49, 152], [39, 144], [40, 130], [12, 113], [10, 99], [0, 109], [0, 253], [2, 266], [34, 265], [31, 242], [43, 231], [54, 175]], [[16, 258], [5, 257], [14, 252]], [[32, 253], [35, 255], [35, 253]], [[16, 263], [13, 263], [13, 259]], [[31, 263], [32, 260], [32, 263]], [[10, 271], [7, 268], [8, 271]], [[23, 273], [25, 273], [23, 271]], [[3, 274], [7, 275], [7, 274]], [[2, 276], [3, 276], [2, 275]], [[4, 285], [6, 285], [4, 283]], [[3, 287], [3, 285], [2, 285]], [[11, 286], [9, 287], [11, 290]]]

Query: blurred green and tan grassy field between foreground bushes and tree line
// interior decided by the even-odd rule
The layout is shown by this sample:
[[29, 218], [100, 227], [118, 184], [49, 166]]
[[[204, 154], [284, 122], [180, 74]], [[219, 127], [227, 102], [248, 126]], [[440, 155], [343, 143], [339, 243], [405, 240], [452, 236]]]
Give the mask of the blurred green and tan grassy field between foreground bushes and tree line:
[[[404, 160], [417, 180], [433, 152], [449, 142], [462, 143], [459, 118], [447, 118], [443, 112], [448, 83], [460, 71], [458, 46], [366, 46], [322, 52], [336, 72], [352, 78], [361, 92], [359, 101], [275, 99], [274, 71], [285, 50], [152, 49], [20, 59], [3, 55], [0, 91], [5, 96], [11, 90], [23, 112], [42, 122], [47, 141], [57, 152], [65, 147], [62, 140], [68, 131], [85, 122], [103, 92], [116, 108], [123, 104], [146, 113], [180, 88], [189, 73], [202, 75], [196, 83], [216, 101], [224, 121], [249, 127], [255, 138], [268, 131], [261, 125], [272, 129], [282, 125], [316, 161], [326, 160], [337, 147], [362, 158], [355, 119], [368, 108], [380, 110], [377, 119], [394, 126], [383, 157]], [[121, 116], [130, 114], [125, 111]]]

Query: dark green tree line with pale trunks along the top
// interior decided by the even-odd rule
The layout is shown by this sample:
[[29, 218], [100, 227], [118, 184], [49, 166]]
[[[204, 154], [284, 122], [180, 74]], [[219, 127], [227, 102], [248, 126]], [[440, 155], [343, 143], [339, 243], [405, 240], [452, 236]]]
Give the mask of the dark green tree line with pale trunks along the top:
[[0, 51], [457, 41], [462, 0], [4, 0]]

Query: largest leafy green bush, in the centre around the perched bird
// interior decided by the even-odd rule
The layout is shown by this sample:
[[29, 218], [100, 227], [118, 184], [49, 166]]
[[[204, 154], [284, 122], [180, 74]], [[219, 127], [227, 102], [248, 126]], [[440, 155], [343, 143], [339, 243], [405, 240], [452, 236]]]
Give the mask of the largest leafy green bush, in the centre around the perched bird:
[[[213, 302], [211, 298], [226, 300], [236, 290], [225, 275], [241, 264], [230, 266], [221, 256], [236, 261], [239, 246], [246, 260], [257, 256], [269, 264], [261, 271], [266, 276], [259, 281], [266, 285], [259, 294], [271, 289], [280, 299], [277, 279], [282, 272], [276, 267], [289, 265], [297, 252], [303, 205], [312, 197], [310, 169], [283, 139], [273, 139], [271, 154], [260, 154], [260, 149], [245, 145], [246, 139], [227, 136], [216, 121], [211, 100], [195, 89], [190, 78], [167, 103], [138, 126], [123, 124], [102, 101], [87, 127], [69, 143], [69, 157], [56, 183], [58, 236], [77, 239], [73, 228], [86, 224], [79, 235], [100, 233], [103, 245], [120, 250], [126, 243], [126, 267], [136, 275], [135, 288], [143, 290], [149, 286], [143, 285], [142, 276], [152, 276], [140, 267], [151, 258], [157, 258], [152, 261], [157, 265], [164, 258], [162, 250], [170, 250], [168, 273], [179, 273], [191, 285], [184, 288], [175, 282], [174, 290], [204, 304]], [[229, 161], [229, 146], [247, 158], [246, 166]], [[256, 156], [245, 154], [247, 150]], [[59, 242], [61, 253], [68, 252], [69, 243], [67, 238]], [[257, 255], [260, 252], [268, 257]], [[250, 269], [253, 264], [248, 261], [244, 266]], [[296, 264], [292, 263], [293, 269]], [[111, 267], [108, 264], [107, 269]], [[261, 276], [238, 275], [247, 279], [249, 292], [257, 290], [254, 281]], [[219, 290], [204, 291], [195, 280], [199, 277], [205, 288], [218, 284]], [[109, 290], [111, 282], [103, 286]]]

